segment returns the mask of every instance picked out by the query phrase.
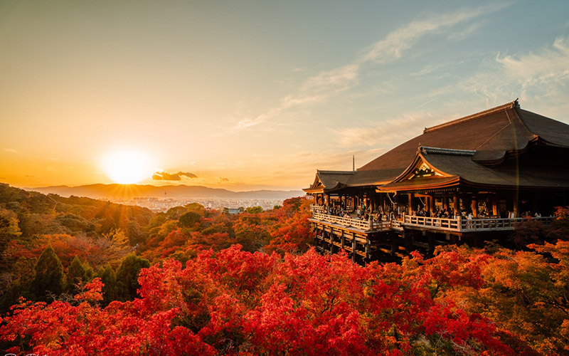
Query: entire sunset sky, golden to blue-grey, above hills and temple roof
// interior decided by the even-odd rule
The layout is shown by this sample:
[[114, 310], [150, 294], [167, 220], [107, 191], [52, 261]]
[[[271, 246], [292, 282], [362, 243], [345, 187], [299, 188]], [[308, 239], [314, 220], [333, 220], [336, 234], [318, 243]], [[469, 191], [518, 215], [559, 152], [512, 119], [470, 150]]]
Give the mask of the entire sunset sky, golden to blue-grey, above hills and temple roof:
[[516, 98], [569, 123], [566, 0], [0, 1], [0, 41], [16, 187], [130, 152], [141, 184], [300, 189]]

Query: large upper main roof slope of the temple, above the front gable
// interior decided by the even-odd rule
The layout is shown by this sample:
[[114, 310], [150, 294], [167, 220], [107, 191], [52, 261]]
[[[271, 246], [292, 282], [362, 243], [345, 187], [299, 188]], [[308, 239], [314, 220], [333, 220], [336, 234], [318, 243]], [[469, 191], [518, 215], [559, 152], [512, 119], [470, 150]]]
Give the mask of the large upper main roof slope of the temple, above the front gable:
[[[518, 100], [484, 110], [441, 125], [425, 128], [422, 135], [393, 148], [359, 168], [349, 185], [369, 183], [360, 179], [364, 171], [374, 171], [376, 184], [393, 181], [413, 161], [417, 147], [439, 147], [475, 151], [472, 159], [483, 164], [501, 162], [508, 152], [526, 150], [539, 141], [569, 148], [569, 125], [533, 112], [521, 110]], [[366, 182], [364, 182], [366, 181]]]

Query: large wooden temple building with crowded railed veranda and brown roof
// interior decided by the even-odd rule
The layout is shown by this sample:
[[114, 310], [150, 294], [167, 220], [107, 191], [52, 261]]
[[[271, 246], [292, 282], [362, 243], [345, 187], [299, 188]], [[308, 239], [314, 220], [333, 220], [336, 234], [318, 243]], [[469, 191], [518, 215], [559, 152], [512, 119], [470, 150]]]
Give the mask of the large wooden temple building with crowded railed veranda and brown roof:
[[569, 125], [515, 100], [427, 127], [357, 170], [317, 170], [304, 192], [317, 247], [359, 263], [481, 246], [569, 204]]

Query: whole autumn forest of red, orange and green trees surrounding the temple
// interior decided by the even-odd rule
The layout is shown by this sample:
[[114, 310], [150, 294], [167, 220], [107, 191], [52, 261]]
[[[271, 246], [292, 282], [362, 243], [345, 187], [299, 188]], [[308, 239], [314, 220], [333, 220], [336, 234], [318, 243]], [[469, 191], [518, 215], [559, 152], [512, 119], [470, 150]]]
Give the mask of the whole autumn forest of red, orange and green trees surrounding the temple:
[[0, 350], [41, 355], [569, 353], [569, 209], [483, 249], [358, 266], [309, 199], [237, 215], [0, 184]]

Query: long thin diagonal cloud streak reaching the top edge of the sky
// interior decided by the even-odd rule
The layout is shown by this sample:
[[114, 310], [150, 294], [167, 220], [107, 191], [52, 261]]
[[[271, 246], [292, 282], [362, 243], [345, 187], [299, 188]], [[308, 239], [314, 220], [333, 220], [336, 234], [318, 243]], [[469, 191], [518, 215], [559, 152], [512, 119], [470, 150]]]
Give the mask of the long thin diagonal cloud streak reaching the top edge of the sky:
[[[356, 58], [344, 66], [325, 70], [312, 75], [299, 86], [297, 93], [285, 96], [280, 100], [280, 105], [263, 112], [256, 117], [245, 117], [238, 121], [229, 132], [238, 132], [256, 125], [260, 125], [272, 117], [280, 115], [283, 111], [291, 108], [320, 103], [324, 100], [349, 90], [359, 83], [363, 68], [370, 65], [397, 61], [407, 51], [418, 43], [423, 36], [452, 28], [459, 23], [476, 19], [484, 14], [510, 6], [479, 6], [474, 9], [462, 9], [446, 14], [427, 16], [426, 19], [412, 21], [401, 28], [389, 33], [381, 41], [371, 44], [356, 55]], [[469, 26], [464, 33], [473, 32], [476, 26]], [[435, 70], [436, 68], [431, 68]]]

